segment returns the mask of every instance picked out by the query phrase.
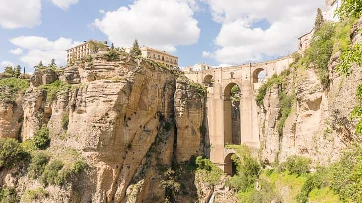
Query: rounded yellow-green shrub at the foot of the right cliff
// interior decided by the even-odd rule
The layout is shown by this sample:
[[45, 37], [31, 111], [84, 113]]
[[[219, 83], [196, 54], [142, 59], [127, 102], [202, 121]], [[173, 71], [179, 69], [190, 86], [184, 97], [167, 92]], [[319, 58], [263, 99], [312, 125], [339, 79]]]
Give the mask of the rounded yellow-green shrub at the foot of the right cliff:
[[280, 164], [281, 171], [288, 170], [291, 174], [307, 174], [309, 173], [311, 160], [302, 156], [289, 156], [286, 162]]

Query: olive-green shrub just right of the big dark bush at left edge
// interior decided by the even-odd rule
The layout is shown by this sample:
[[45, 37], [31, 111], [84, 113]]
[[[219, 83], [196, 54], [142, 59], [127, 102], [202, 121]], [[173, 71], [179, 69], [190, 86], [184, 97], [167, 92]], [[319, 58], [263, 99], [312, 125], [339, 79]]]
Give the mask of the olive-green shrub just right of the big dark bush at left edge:
[[29, 167], [29, 177], [36, 179], [44, 172], [45, 166], [48, 164], [50, 156], [44, 152], [38, 152], [31, 159]]

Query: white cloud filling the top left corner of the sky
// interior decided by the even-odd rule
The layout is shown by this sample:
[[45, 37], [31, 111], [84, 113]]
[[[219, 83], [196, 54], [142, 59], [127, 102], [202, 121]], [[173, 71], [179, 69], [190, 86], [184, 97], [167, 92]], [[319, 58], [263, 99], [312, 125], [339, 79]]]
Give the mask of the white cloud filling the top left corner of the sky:
[[40, 24], [40, 0], [0, 0], [0, 27], [31, 28]]

